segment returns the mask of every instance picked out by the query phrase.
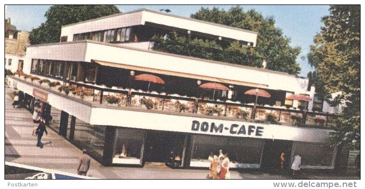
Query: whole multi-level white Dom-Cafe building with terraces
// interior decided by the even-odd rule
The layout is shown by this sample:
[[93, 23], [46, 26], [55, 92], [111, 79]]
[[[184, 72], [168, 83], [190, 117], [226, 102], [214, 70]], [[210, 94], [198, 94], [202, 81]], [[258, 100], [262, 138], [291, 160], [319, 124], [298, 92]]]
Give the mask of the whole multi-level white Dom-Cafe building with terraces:
[[[170, 31], [256, 46], [252, 31], [141, 9], [63, 26], [60, 43], [27, 48], [27, 79], [9, 80], [30, 111], [42, 109], [49, 122], [51, 115], [53, 129], [103, 165], [165, 162], [173, 152], [181, 167], [209, 167], [209, 154], [222, 149], [232, 168], [278, 168], [282, 152], [287, 166], [300, 154], [303, 169], [335, 168], [341, 148], [327, 140], [337, 116], [307, 90], [308, 79], [153, 50], [151, 38]], [[206, 83], [226, 89], [201, 88]], [[244, 92], [255, 88], [271, 97], [258, 98], [253, 116], [255, 97]], [[291, 94], [313, 100], [305, 106], [286, 100]]]

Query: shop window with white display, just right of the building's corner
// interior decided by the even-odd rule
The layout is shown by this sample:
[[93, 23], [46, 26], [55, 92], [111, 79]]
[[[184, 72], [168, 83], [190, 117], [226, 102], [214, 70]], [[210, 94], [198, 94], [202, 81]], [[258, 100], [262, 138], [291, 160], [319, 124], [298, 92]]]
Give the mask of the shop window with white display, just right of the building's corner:
[[142, 129], [116, 128], [112, 163], [141, 164], [144, 133]]

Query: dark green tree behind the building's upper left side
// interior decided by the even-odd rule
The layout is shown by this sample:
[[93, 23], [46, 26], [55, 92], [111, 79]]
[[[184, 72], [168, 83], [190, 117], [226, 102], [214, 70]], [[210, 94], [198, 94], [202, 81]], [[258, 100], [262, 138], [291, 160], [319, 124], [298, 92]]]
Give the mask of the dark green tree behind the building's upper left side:
[[107, 16], [120, 11], [115, 5], [54, 5], [51, 6], [45, 17], [45, 23], [32, 29], [30, 43], [56, 43], [60, 42], [61, 26], [81, 22], [93, 18]]

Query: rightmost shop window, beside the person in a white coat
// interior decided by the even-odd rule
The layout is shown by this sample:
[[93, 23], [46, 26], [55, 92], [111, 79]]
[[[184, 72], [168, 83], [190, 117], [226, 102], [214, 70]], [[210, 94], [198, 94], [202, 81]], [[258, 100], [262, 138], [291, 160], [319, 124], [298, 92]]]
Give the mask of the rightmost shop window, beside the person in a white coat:
[[302, 166], [334, 166], [336, 150], [323, 143], [294, 142], [292, 156], [302, 157]]

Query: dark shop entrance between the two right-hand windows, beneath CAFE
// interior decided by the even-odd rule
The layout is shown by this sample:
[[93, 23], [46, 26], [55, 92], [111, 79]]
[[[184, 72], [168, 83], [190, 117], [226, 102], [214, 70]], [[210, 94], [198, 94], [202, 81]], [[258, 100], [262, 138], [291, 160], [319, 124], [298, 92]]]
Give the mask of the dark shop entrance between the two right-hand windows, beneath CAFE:
[[264, 144], [261, 168], [265, 172], [280, 173], [280, 156], [285, 153], [284, 171], [291, 165], [293, 141], [289, 140], [266, 140]]

